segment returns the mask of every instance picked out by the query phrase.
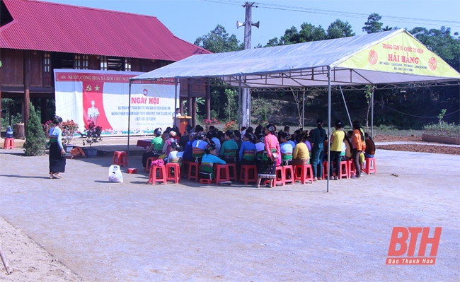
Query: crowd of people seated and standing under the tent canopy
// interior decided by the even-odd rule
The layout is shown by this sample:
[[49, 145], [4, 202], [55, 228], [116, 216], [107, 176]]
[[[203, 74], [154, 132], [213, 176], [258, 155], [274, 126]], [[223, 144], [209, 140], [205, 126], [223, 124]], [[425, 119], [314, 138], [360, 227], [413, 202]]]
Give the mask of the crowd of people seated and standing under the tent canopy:
[[[214, 164], [235, 163], [236, 172], [241, 165], [255, 165], [258, 171], [257, 186], [268, 180], [274, 185], [275, 169], [280, 165], [312, 165], [314, 180], [330, 177], [338, 180], [340, 161], [352, 160], [355, 175], [360, 177], [360, 167], [364, 158], [373, 158], [375, 144], [369, 134], [364, 134], [359, 122], [353, 122], [352, 131], [343, 131], [342, 122], [335, 122], [330, 139], [323, 129], [323, 121], [316, 121], [317, 127], [307, 131], [298, 129], [290, 134], [290, 128], [277, 132], [274, 124], [266, 127], [243, 127], [238, 130], [219, 131], [209, 127], [207, 132], [197, 125], [188, 126], [183, 135], [177, 127], [165, 131], [157, 128], [151, 146], [142, 155], [142, 165], [147, 165], [149, 157], [162, 159], [165, 163], [188, 161], [200, 163], [200, 178], [214, 178]], [[323, 162], [328, 160], [330, 146], [329, 175], [323, 177]], [[335, 174], [335, 175], [334, 175]], [[265, 183], [265, 182], [263, 182]]]

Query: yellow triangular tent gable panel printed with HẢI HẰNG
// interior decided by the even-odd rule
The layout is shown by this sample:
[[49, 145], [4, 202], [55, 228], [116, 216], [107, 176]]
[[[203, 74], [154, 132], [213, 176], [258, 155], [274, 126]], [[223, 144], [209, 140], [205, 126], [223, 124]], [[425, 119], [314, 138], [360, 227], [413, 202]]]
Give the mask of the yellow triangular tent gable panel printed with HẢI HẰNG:
[[406, 33], [398, 33], [384, 42], [379, 42], [355, 54], [338, 67], [460, 78], [460, 74], [455, 69]]

